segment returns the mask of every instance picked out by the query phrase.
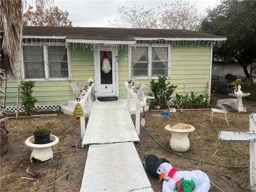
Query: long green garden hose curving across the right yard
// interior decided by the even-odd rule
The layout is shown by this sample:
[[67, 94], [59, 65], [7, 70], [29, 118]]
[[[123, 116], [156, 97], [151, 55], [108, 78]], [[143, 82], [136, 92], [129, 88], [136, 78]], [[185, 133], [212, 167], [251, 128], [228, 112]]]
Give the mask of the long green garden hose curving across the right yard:
[[[141, 125], [141, 124], [140, 124]], [[200, 125], [200, 124], [199, 124]], [[142, 125], [141, 125], [142, 126]], [[202, 126], [202, 125], [201, 125]], [[204, 127], [204, 126], [202, 126]], [[228, 148], [234, 150], [235, 152], [237, 152], [238, 154], [240, 154], [241, 156], [243, 156], [244, 158], [246, 158], [246, 160], [248, 160], [248, 165], [245, 165], [245, 166], [229, 166], [229, 165], [223, 165], [223, 164], [218, 164], [218, 163], [213, 163], [213, 162], [208, 162], [208, 161], [204, 161], [204, 160], [201, 160], [201, 159], [195, 159], [195, 158], [190, 158], [190, 157], [187, 157], [187, 156], [184, 156], [184, 155], [181, 155], [181, 154], [178, 154], [178, 153], [175, 153], [171, 150], [169, 150], [168, 148], [166, 148], [165, 146], [163, 146], [158, 140], [156, 140], [156, 138], [154, 138], [154, 136], [152, 136], [152, 134], [150, 134], [150, 132], [148, 132], [146, 130], [146, 128], [144, 126], [142, 126], [142, 128], [146, 131], [147, 134], [149, 134], [153, 140], [155, 140], [160, 146], [162, 146], [162, 148], [164, 148], [165, 150], [167, 150], [168, 152], [174, 154], [174, 155], [177, 155], [177, 156], [180, 156], [182, 158], [186, 158], [186, 159], [190, 159], [190, 160], [195, 160], [195, 161], [199, 161], [199, 162], [204, 162], [204, 163], [208, 163], [208, 164], [212, 164], [212, 165], [218, 165], [218, 166], [222, 166], [222, 167], [228, 167], [228, 168], [247, 168], [250, 166], [250, 161], [248, 160], [248, 158], [246, 158], [246, 156], [244, 156], [243, 154], [241, 154], [240, 152], [230, 148], [228, 145], [226, 145], [222, 140], [222, 144], [224, 144], [225, 146], [227, 146]], [[205, 128], [205, 127], [204, 127]], [[205, 128], [206, 129], [206, 128]], [[208, 129], [206, 129], [208, 130]], [[208, 130], [209, 131], [209, 130]], [[210, 132], [210, 131], [209, 131]], [[211, 132], [212, 133], [212, 132]]]

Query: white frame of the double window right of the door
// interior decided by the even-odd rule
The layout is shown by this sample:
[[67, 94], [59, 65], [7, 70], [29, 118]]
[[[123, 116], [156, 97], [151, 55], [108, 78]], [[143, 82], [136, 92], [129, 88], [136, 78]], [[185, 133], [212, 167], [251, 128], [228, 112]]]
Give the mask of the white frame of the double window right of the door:
[[148, 47], [148, 76], [132, 76], [132, 47], [134, 45], [129, 46], [129, 54], [128, 54], [128, 76], [134, 80], [150, 80], [150, 79], [158, 79], [157, 76], [152, 76], [152, 47], [167, 47], [168, 48], [168, 64], [167, 64], [167, 79], [171, 78], [171, 46], [170, 45], [136, 45], [136, 47]]

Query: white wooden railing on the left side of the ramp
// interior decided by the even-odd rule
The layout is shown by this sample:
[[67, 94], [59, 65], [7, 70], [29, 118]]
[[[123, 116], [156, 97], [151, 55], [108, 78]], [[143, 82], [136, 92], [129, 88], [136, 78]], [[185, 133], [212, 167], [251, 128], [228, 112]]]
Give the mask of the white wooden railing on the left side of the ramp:
[[[93, 86], [93, 85], [92, 85]], [[87, 90], [84, 99], [81, 99], [79, 102], [75, 101], [75, 103], [79, 103], [82, 106], [82, 109], [84, 110], [84, 104], [86, 100], [88, 100], [88, 118], [90, 117], [91, 111], [92, 111], [92, 98], [91, 98], [91, 93], [92, 93], [92, 86]], [[85, 133], [85, 118], [81, 117], [80, 118], [80, 126], [81, 126], [81, 138], [84, 138], [84, 133]]]

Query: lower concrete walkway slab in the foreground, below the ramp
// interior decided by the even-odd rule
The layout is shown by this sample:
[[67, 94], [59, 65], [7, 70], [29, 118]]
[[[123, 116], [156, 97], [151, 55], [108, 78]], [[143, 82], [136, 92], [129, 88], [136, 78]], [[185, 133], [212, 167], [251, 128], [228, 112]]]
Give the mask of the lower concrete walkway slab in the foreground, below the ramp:
[[91, 145], [80, 192], [153, 192], [133, 142]]

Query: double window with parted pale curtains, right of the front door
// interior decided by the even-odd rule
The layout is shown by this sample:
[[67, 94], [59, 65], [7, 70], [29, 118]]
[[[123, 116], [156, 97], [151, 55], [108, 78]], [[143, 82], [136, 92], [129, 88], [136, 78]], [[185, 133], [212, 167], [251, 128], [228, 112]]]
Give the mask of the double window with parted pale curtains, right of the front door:
[[131, 77], [154, 78], [158, 75], [170, 77], [168, 46], [131, 47]]

